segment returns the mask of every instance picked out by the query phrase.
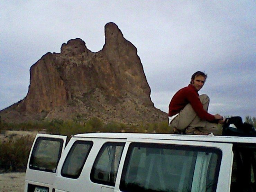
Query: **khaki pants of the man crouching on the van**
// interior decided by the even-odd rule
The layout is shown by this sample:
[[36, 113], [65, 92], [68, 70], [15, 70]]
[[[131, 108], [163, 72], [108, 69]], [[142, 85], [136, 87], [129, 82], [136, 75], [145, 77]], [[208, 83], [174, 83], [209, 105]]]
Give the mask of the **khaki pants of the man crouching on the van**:
[[[208, 111], [210, 102], [208, 95], [202, 94], [199, 96], [199, 99], [204, 110]], [[184, 109], [180, 111], [179, 115], [173, 119], [170, 127], [175, 127], [177, 130], [183, 131], [186, 134], [194, 134], [195, 130], [209, 134], [213, 133], [214, 135], [222, 134], [221, 128], [219, 128], [217, 124], [210, 123], [198, 117], [190, 103], [187, 104]]]

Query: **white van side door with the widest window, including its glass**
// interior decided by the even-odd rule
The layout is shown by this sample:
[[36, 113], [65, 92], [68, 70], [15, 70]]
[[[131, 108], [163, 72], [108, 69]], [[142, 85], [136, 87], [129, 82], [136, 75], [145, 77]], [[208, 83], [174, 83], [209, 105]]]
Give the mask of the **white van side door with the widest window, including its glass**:
[[[130, 141], [130, 142], [129, 142]], [[232, 144], [130, 139], [115, 192], [228, 192]], [[125, 151], [124, 151], [125, 153]]]

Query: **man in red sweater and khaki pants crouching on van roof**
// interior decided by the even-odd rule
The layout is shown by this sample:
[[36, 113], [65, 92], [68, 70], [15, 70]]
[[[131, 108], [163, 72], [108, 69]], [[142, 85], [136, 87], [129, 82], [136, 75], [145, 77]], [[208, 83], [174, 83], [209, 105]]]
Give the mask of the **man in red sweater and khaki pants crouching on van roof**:
[[171, 133], [182, 131], [185, 134], [196, 135], [222, 134], [217, 124], [223, 124], [223, 117], [208, 113], [208, 95], [198, 94], [206, 78], [207, 74], [197, 71], [192, 75], [190, 84], [174, 94], [168, 112]]

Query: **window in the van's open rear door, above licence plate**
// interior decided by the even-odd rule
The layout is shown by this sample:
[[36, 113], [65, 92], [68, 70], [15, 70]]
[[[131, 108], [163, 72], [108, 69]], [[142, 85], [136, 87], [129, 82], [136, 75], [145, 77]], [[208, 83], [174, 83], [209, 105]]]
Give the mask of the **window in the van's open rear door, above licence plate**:
[[62, 146], [63, 139], [38, 137], [31, 154], [29, 168], [55, 173]]

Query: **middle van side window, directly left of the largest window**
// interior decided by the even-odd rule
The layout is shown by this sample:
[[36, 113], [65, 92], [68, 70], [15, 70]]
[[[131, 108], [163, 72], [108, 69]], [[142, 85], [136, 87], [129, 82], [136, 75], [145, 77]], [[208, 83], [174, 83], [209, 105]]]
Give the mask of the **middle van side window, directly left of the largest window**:
[[105, 143], [93, 164], [91, 180], [115, 186], [117, 170], [125, 143]]

